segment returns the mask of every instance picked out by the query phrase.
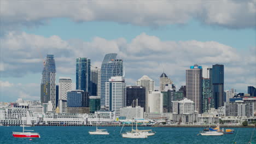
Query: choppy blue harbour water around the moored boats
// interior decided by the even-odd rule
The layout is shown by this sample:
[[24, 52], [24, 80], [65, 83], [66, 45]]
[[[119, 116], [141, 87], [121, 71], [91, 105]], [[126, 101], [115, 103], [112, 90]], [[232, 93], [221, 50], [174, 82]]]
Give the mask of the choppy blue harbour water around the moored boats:
[[[106, 128], [109, 135], [89, 135], [89, 130], [95, 127], [27, 127], [34, 132], [40, 133], [41, 138], [29, 141], [28, 138], [14, 138], [12, 131], [22, 131], [22, 127], [0, 127], [0, 143], [232, 143], [236, 133], [235, 142], [248, 143], [251, 139], [253, 128], [233, 128], [235, 134], [223, 136], [201, 136], [199, 131], [203, 128], [151, 128], [140, 127], [139, 129], [152, 129], [156, 131], [154, 136], [147, 139], [125, 139], [121, 137], [121, 127], [102, 127]], [[124, 127], [123, 132], [131, 130]], [[256, 130], [255, 130], [256, 131]], [[255, 132], [256, 133], [256, 132]], [[256, 142], [256, 134], [253, 136]]]

